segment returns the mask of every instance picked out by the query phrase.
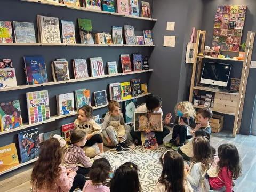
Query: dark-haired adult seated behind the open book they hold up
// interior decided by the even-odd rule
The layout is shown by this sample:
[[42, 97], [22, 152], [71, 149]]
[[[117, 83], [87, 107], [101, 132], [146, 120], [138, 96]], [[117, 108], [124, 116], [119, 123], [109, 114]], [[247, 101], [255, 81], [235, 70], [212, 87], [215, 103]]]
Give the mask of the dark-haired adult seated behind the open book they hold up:
[[[146, 98], [146, 102], [145, 104], [139, 106], [135, 112], [137, 113], [163, 113], [162, 109], [162, 98], [155, 95], [155, 94], [151, 94]], [[167, 115], [165, 116], [163, 125], [167, 125], [170, 123], [172, 118], [171, 113], [167, 113]], [[169, 134], [170, 130], [167, 127], [163, 127], [163, 131], [155, 131], [155, 136], [157, 139], [157, 143], [160, 145], [163, 143], [163, 139], [164, 137]], [[131, 129], [131, 136], [133, 138], [133, 143], [135, 145], [140, 145], [141, 144], [141, 132], [139, 131], [134, 131], [134, 128]]]

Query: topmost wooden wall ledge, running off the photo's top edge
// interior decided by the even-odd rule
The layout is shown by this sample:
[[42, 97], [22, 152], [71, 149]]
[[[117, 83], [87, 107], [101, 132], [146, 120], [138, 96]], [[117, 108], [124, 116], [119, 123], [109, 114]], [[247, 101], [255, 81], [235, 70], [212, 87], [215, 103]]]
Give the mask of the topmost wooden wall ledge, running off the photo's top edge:
[[115, 16], [119, 16], [119, 17], [126, 17], [126, 18], [132, 18], [132, 19], [157, 21], [157, 19], [153, 19], [153, 18], [145, 18], [145, 17], [134, 16], [134, 15], [126, 15], [126, 14], [122, 14], [122, 13], [114, 13], [114, 12], [109, 12], [109, 11], [88, 9], [86, 7], [78, 7], [78, 6], [74, 6], [74, 5], [65, 5], [65, 4], [62, 4], [62, 3], [49, 2], [49, 1], [45, 1], [45, 0], [21, 0], [21, 1], [47, 4], [47, 5], [52, 5], [52, 6], [64, 7], [64, 8], [68, 8], [68, 9], [95, 12], [95, 13], [101, 13], [101, 14], [115, 15]]

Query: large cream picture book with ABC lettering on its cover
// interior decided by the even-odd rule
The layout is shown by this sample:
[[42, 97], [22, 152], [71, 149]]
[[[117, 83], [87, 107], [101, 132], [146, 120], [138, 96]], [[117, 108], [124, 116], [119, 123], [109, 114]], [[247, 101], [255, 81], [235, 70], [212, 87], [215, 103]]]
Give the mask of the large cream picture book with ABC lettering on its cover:
[[39, 43], [61, 43], [59, 18], [37, 15]]

